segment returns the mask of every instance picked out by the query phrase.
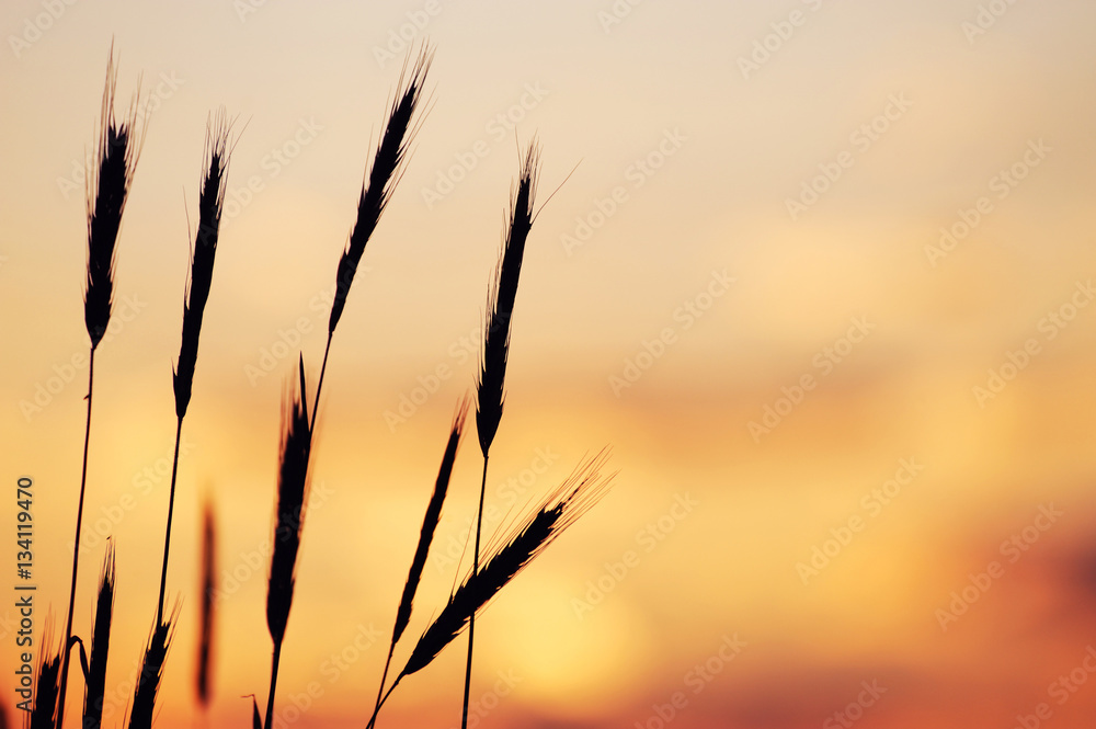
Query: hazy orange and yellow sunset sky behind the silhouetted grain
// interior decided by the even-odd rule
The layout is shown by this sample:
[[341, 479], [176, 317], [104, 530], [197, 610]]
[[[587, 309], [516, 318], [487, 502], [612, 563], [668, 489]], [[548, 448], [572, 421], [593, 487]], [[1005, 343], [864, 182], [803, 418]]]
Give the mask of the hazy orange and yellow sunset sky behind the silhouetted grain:
[[[250, 726], [241, 696], [265, 704], [283, 395], [298, 352], [319, 375], [367, 162], [427, 39], [429, 113], [328, 363], [287, 725], [368, 719], [536, 135], [539, 201], [555, 194], [525, 255], [486, 527], [605, 446], [619, 474], [477, 623], [478, 726], [1092, 726], [1096, 4], [9, 0], [0, 30], [0, 516], [14, 533], [33, 478], [35, 630], [55, 636], [85, 415], [83, 175], [112, 43], [118, 110], [139, 93], [146, 118], [96, 353], [73, 625], [90, 633], [111, 536], [107, 726], [156, 613], [208, 115], [224, 106], [237, 143], [183, 428], [164, 729], [196, 726], [206, 497], [224, 597], [208, 726]], [[481, 467], [470, 426], [397, 663], [468, 569]], [[458, 727], [465, 646], [377, 726]]]

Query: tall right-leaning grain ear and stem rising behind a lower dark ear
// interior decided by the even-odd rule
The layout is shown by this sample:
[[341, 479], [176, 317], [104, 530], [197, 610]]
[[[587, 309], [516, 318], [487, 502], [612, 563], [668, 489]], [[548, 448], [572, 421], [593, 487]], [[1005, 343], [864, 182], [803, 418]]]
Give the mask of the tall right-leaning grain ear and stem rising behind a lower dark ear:
[[331, 339], [335, 327], [342, 319], [350, 295], [351, 284], [362, 262], [366, 243], [377, 229], [380, 216], [388, 207], [396, 185], [403, 174], [403, 166], [408, 149], [419, 132], [421, 115], [418, 114], [422, 101], [423, 86], [434, 58], [434, 52], [424, 43], [414, 60], [409, 54], [403, 61], [397, 91], [388, 110], [385, 130], [380, 135], [373, 164], [368, 170], [367, 180], [362, 186], [357, 202], [357, 218], [351, 230], [350, 240], [339, 258], [335, 270], [335, 294], [331, 304], [331, 316], [328, 319], [328, 341], [323, 348], [323, 364], [320, 365], [320, 378], [316, 385], [316, 402], [312, 406], [312, 426], [320, 407], [320, 392], [323, 389], [323, 377], [328, 369], [328, 355], [331, 352]]

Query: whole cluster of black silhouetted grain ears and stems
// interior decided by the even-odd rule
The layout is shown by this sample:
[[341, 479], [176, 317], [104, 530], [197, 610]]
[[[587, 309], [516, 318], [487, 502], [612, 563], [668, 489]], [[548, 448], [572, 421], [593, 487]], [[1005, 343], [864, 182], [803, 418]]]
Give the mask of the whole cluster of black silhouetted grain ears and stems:
[[[126, 200], [144, 141], [144, 119], [137, 114], [134, 99], [121, 119], [115, 116], [114, 53], [107, 65], [106, 90], [103, 95], [99, 144], [95, 148], [93, 175], [88, 185], [88, 278], [84, 296], [84, 318], [91, 341], [88, 374], [87, 423], [83, 466], [77, 504], [76, 540], [72, 577], [66, 614], [65, 633], [57, 652], [44, 654], [36, 676], [33, 708], [28, 716], [33, 728], [61, 729], [65, 696], [73, 654], [79, 656], [84, 680], [82, 724], [98, 729], [102, 724], [106, 687], [107, 659], [111, 654], [111, 626], [116, 588], [115, 553], [109, 544], [99, 580], [94, 606], [90, 656], [83, 641], [72, 633], [72, 616], [80, 567], [80, 531], [88, 482], [88, 454], [91, 443], [92, 392], [94, 356], [107, 330], [113, 304], [114, 273], [118, 235]], [[305, 355], [298, 357], [297, 373], [286, 386], [282, 408], [278, 474], [275, 489], [273, 548], [271, 551], [266, 625], [272, 641], [270, 688], [265, 717], [259, 700], [252, 696], [253, 726], [258, 729], [274, 725], [278, 668], [286, 640], [293, 607], [298, 554], [305, 529], [306, 509], [312, 463], [316, 422], [321, 401], [320, 392], [328, 368], [328, 357], [335, 329], [345, 310], [355, 273], [377, 225], [391, 200], [408, 161], [409, 146], [419, 133], [425, 116], [424, 88], [433, 60], [427, 45], [409, 55], [401, 70], [397, 90], [388, 107], [385, 127], [376, 152], [368, 164], [357, 205], [357, 215], [335, 269], [335, 294], [328, 321], [320, 376], [316, 383], [311, 414], [305, 375]], [[210, 115], [206, 128], [204, 173], [198, 195], [198, 223], [191, 251], [191, 267], [184, 292], [182, 342], [172, 372], [175, 402], [175, 449], [167, 494], [167, 523], [163, 537], [163, 559], [155, 618], [145, 646], [140, 672], [128, 708], [132, 729], [149, 728], [157, 714], [157, 696], [167, 667], [172, 636], [178, 622], [178, 605], [165, 611], [169, 556], [174, 513], [175, 485], [179, 474], [179, 446], [183, 420], [191, 403], [194, 373], [197, 365], [206, 301], [213, 286], [214, 267], [219, 241], [220, 220], [235, 140], [232, 119], [224, 111]], [[532, 141], [521, 161], [517, 182], [511, 195], [510, 214], [498, 267], [488, 291], [488, 314], [483, 332], [481, 367], [475, 398], [466, 395], [456, 406], [448, 440], [442, 456], [434, 490], [426, 504], [419, 543], [411, 556], [411, 567], [396, 611], [388, 658], [385, 661], [376, 702], [368, 716], [373, 727], [385, 702], [401, 681], [425, 669], [458, 636], [468, 629], [468, 653], [465, 671], [461, 726], [467, 726], [468, 698], [471, 683], [476, 616], [514, 577], [544, 551], [568, 526], [585, 513], [604, 493], [610, 476], [603, 475], [604, 452], [580, 464], [557, 489], [536, 503], [526, 515], [496, 534], [481, 549], [481, 523], [488, 457], [502, 420], [505, 399], [506, 363], [511, 344], [512, 318], [517, 297], [525, 246], [536, 218], [536, 191], [540, 164], [539, 145]], [[400, 639], [411, 623], [415, 593], [422, 579], [434, 533], [441, 520], [449, 490], [449, 480], [457, 458], [465, 423], [472, 399], [476, 402], [476, 428], [483, 457], [479, 505], [470, 572], [455, 583], [448, 600], [435, 611], [422, 635], [411, 648], [403, 668], [389, 681], [392, 660]], [[201, 540], [202, 585], [199, 588], [198, 660], [195, 694], [199, 706], [206, 707], [213, 692], [215, 656], [214, 574], [216, 571], [216, 529], [214, 506], [206, 502]], [[48, 641], [47, 641], [48, 642]], [[78, 650], [73, 650], [78, 649]], [[363, 708], [363, 719], [366, 709]]]

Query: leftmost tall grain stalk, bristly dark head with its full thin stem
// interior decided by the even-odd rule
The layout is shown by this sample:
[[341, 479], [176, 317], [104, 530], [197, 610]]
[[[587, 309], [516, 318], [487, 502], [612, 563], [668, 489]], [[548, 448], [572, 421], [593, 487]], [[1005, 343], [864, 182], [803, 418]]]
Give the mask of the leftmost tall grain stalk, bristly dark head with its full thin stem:
[[68, 688], [68, 669], [72, 642], [72, 612], [76, 607], [76, 586], [80, 566], [80, 531], [83, 524], [83, 501], [88, 488], [88, 447], [91, 442], [91, 403], [95, 377], [95, 351], [111, 322], [114, 301], [114, 267], [122, 215], [137, 159], [144, 141], [144, 128], [138, 128], [137, 98], [119, 121], [114, 115], [115, 84], [114, 48], [111, 47], [106, 65], [106, 88], [100, 116], [99, 141], [95, 158], [88, 175], [88, 276], [83, 299], [84, 323], [91, 339], [88, 358], [88, 417], [83, 436], [83, 465], [80, 472], [80, 498], [77, 502], [76, 539], [72, 549], [72, 581], [69, 588], [68, 614], [65, 620], [65, 639], [61, 643], [60, 690], [57, 707], [57, 726], [65, 720], [65, 696]]

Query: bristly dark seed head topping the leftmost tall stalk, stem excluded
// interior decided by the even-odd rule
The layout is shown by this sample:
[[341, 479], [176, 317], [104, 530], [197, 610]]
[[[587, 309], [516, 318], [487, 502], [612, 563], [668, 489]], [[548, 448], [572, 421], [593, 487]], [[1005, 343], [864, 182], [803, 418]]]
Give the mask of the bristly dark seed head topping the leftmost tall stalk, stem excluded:
[[136, 99], [121, 122], [114, 116], [116, 80], [112, 53], [106, 66], [99, 143], [88, 175], [88, 282], [83, 316], [92, 350], [99, 346], [111, 322], [115, 246], [141, 146]]

